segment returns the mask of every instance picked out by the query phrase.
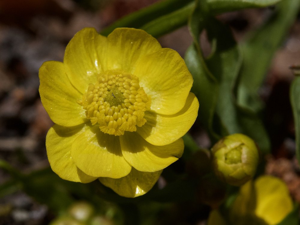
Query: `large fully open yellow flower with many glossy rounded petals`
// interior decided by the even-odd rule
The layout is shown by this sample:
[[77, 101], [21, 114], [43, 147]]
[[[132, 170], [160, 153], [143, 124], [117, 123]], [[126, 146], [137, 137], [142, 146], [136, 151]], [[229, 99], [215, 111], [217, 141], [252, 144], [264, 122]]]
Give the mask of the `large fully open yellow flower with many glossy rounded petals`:
[[46, 136], [52, 170], [62, 179], [99, 178], [119, 195], [149, 191], [183, 153], [182, 136], [199, 103], [179, 54], [143, 30], [107, 38], [79, 31], [64, 61], [39, 71], [41, 101], [55, 125]]

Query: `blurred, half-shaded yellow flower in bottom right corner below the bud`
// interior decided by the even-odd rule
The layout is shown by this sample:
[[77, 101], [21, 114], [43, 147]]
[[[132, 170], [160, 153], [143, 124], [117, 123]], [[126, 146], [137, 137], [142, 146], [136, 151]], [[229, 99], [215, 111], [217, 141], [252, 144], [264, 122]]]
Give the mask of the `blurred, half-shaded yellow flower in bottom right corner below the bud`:
[[241, 186], [237, 198], [229, 209], [229, 223], [219, 211], [213, 210], [208, 225], [275, 225], [293, 209], [286, 184], [273, 176], [261, 176]]

